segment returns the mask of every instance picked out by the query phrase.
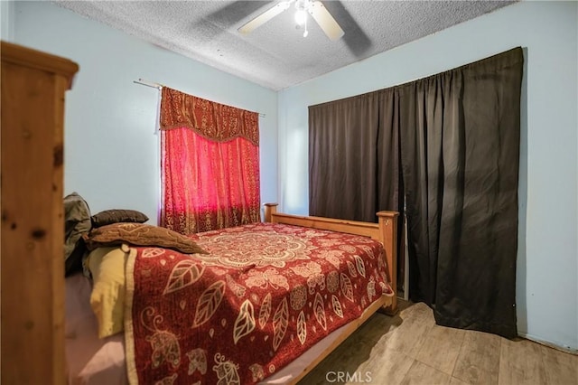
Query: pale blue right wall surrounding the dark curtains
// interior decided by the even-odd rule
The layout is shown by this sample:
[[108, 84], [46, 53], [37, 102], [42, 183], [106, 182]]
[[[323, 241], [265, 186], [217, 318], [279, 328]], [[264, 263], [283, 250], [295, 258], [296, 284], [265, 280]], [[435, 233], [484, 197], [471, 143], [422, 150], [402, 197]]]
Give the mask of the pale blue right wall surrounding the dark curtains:
[[517, 326], [578, 349], [578, 3], [524, 2], [279, 93], [282, 210], [308, 212], [307, 106], [522, 46]]

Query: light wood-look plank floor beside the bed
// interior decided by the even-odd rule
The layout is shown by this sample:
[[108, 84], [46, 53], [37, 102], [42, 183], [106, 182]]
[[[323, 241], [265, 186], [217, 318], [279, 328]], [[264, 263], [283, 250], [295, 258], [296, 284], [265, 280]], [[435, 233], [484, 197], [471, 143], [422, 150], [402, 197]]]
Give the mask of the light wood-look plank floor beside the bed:
[[578, 355], [439, 326], [424, 304], [400, 308], [369, 318], [299, 384], [578, 384]]

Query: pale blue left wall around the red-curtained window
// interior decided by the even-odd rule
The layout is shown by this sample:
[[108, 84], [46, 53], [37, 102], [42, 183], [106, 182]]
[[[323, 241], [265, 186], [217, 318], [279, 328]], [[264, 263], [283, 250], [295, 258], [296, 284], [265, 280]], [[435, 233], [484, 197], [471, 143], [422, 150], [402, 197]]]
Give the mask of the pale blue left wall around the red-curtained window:
[[158, 90], [143, 78], [259, 118], [261, 200], [276, 200], [277, 94], [168, 52], [49, 2], [15, 2], [14, 42], [63, 56], [80, 70], [66, 95], [65, 192], [92, 212], [143, 211], [156, 223], [160, 158]]

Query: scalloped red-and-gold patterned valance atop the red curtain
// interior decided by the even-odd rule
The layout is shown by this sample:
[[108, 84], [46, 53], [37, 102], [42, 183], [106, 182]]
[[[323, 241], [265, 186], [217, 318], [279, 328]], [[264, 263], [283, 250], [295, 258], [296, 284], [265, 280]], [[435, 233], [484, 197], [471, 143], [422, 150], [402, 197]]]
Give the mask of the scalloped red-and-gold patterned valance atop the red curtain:
[[161, 129], [187, 127], [210, 140], [246, 138], [259, 146], [259, 115], [163, 87]]

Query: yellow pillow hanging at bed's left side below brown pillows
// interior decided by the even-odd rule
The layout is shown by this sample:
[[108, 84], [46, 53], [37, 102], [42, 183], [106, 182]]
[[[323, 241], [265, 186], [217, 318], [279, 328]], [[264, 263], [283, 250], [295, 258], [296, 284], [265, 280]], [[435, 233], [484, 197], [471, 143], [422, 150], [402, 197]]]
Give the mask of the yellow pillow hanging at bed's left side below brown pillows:
[[87, 264], [93, 279], [90, 307], [98, 321], [98, 338], [124, 330], [126, 258], [130, 249], [98, 248], [89, 253]]

